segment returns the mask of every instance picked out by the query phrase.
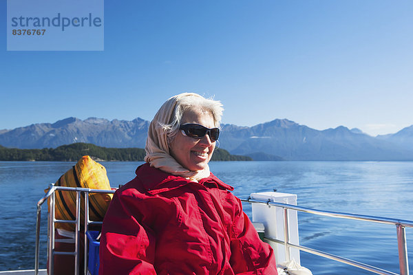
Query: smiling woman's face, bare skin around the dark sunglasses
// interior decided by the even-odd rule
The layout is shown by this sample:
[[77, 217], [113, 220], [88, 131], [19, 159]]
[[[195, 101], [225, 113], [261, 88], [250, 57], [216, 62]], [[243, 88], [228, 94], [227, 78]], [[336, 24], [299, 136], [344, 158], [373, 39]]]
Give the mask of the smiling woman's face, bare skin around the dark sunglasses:
[[[213, 115], [198, 109], [188, 110], [182, 115], [181, 124], [196, 123], [207, 128], [215, 127]], [[178, 131], [175, 139], [169, 144], [169, 151], [182, 165], [191, 171], [202, 170], [212, 157], [215, 142], [211, 142], [209, 135], [196, 139]]]

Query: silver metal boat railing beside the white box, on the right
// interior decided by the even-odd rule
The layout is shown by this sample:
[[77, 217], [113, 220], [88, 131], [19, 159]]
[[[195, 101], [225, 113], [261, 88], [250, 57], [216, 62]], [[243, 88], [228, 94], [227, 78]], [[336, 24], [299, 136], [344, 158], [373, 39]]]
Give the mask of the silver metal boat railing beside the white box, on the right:
[[368, 270], [370, 272], [376, 273], [376, 274], [382, 274], [382, 275], [396, 275], [394, 272], [390, 272], [388, 270], [383, 270], [379, 267], [374, 267], [372, 265], [367, 265], [366, 263], [359, 263], [357, 261], [353, 261], [350, 259], [343, 258], [341, 256], [337, 256], [334, 254], [330, 254], [327, 252], [323, 252], [320, 250], [315, 250], [313, 248], [307, 248], [303, 245], [295, 245], [293, 243], [290, 243], [288, 239], [288, 209], [290, 210], [297, 210], [300, 212], [306, 212], [310, 214], [317, 214], [321, 216], [327, 216], [327, 217], [335, 217], [335, 218], [341, 218], [341, 219], [352, 219], [352, 220], [359, 220], [359, 221], [370, 221], [374, 223], [385, 223], [385, 224], [390, 224], [390, 225], [395, 225], [396, 226], [396, 235], [397, 235], [397, 246], [399, 250], [399, 266], [400, 266], [400, 275], [409, 275], [409, 263], [407, 259], [407, 243], [406, 243], [406, 234], [405, 234], [405, 228], [413, 228], [413, 221], [407, 221], [407, 220], [402, 220], [402, 219], [391, 219], [391, 218], [385, 218], [385, 217], [376, 217], [376, 216], [368, 216], [368, 215], [361, 215], [361, 214], [350, 214], [350, 213], [343, 213], [343, 212], [332, 212], [332, 211], [324, 211], [324, 210], [317, 210], [313, 208], [306, 208], [302, 206], [295, 206], [291, 204], [286, 204], [286, 203], [278, 203], [274, 202], [268, 199], [268, 201], [261, 201], [257, 199], [251, 199], [251, 197], [248, 197], [248, 199], [241, 199], [241, 201], [248, 202], [248, 203], [261, 203], [261, 204], [266, 204], [267, 206], [275, 206], [282, 208], [284, 210], [284, 240], [280, 239], [274, 239], [274, 238], [269, 238], [268, 236], [264, 236], [264, 239], [267, 241], [273, 241], [275, 243], [279, 243], [284, 245], [285, 252], [286, 252], [286, 259], [290, 260], [290, 248], [297, 248], [299, 250], [302, 250], [304, 252], [308, 252], [310, 254], [315, 254], [318, 256], [322, 256], [327, 259], [332, 259], [334, 261], [338, 261], [341, 263], [346, 263], [347, 265], [352, 265], [354, 267], [359, 267], [360, 269], [363, 270]]

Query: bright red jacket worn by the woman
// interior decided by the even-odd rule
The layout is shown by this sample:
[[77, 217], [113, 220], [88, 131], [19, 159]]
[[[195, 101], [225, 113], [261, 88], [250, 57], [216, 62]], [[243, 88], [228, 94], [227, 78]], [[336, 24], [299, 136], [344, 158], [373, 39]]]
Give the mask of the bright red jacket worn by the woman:
[[277, 274], [272, 248], [229, 190], [212, 173], [196, 183], [138, 167], [107, 210], [99, 274]]

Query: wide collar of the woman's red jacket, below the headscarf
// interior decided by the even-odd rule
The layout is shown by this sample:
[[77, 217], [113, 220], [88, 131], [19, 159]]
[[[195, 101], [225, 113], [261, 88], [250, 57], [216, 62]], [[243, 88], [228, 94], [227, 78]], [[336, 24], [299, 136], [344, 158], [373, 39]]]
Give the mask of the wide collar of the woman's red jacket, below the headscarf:
[[[152, 195], [194, 183], [184, 177], [171, 175], [159, 170], [158, 168], [151, 167], [148, 163], [142, 164], [136, 168], [136, 176], [142, 182], [143, 187]], [[211, 173], [209, 177], [201, 179], [198, 184], [213, 184], [217, 188], [223, 188], [231, 191], [234, 190], [232, 186], [225, 184], [223, 181], [218, 179], [218, 177], [215, 177], [213, 173]]]

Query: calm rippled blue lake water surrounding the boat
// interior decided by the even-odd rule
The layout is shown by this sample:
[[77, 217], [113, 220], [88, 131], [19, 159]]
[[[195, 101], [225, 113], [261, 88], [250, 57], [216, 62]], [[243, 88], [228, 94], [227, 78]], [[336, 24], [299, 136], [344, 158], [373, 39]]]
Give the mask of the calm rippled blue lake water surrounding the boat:
[[[134, 177], [142, 162], [101, 162], [112, 187]], [[0, 271], [34, 268], [36, 202], [43, 190], [72, 162], [0, 162]], [[211, 162], [211, 171], [235, 187], [237, 197], [251, 192], [297, 194], [310, 208], [413, 220], [413, 162]], [[251, 206], [244, 210], [251, 217]], [[43, 206], [41, 267], [45, 268]], [[396, 228], [299, 213], [301, 245], [399, 273]], [[413, 273], [413, 228], [407, 228]], [[301, 265], [313, 274], [372, 274], [301, 252]]]

